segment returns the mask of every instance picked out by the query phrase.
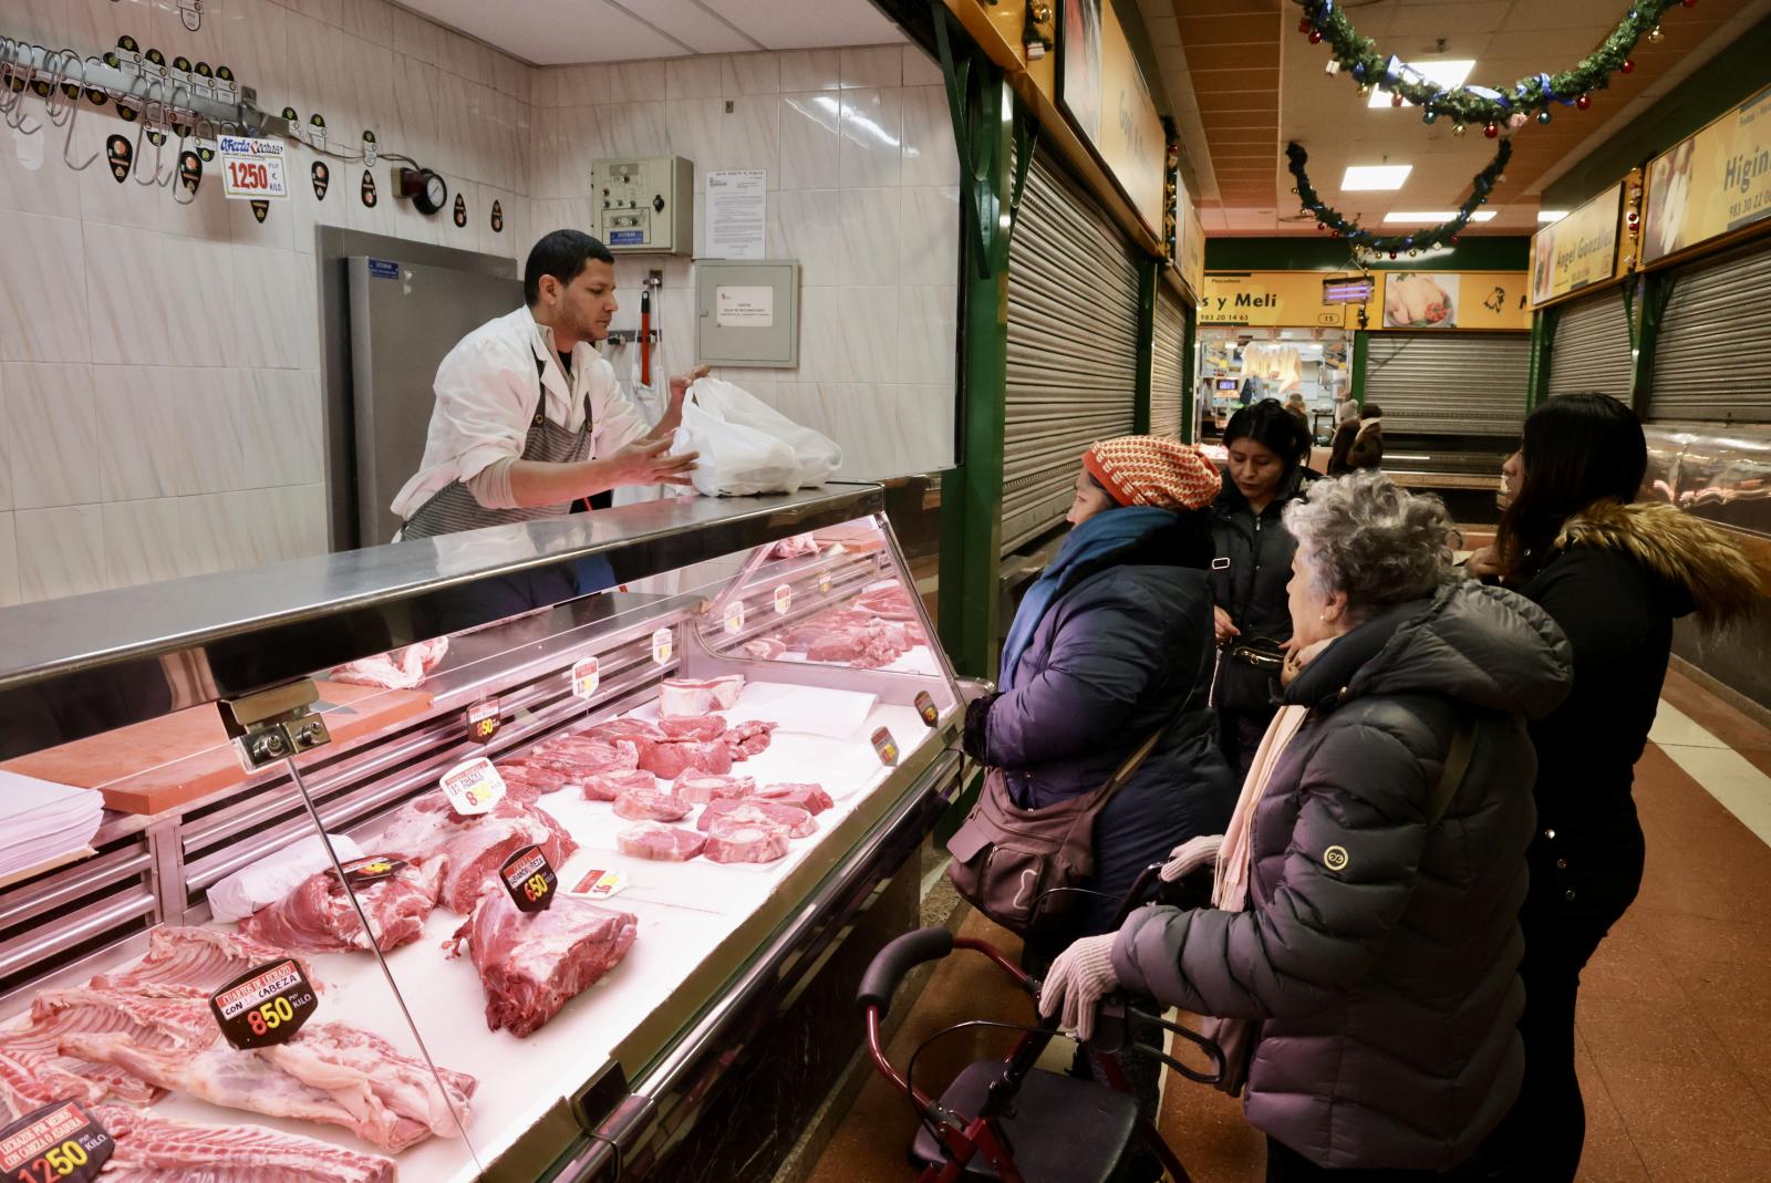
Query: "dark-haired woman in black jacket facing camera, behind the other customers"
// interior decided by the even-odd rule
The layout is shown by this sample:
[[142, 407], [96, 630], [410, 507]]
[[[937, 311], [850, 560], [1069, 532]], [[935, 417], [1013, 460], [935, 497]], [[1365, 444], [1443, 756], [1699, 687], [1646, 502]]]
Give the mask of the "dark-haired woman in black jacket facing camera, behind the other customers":
[[1229, 480], [1211, 506], [1213, 622], [1220, 650], [1213, 703], [1218, 744], [1238, 779], [1273, 717], [1273, 678], [1291, 641], [1286, 581], [1291, 535], [1280, 522], [1303, 492], [1309, 432], [1277, 402], [1243, 407], [1224, 429]]

